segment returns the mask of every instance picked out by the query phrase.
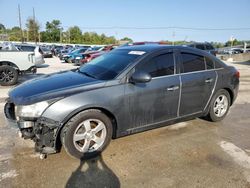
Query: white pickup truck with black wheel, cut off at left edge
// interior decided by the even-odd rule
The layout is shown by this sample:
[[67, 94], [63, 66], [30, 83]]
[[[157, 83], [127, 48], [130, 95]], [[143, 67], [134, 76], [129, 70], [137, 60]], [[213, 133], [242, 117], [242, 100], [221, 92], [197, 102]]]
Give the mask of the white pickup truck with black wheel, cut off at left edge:
[[15, 85], [21, 74], [36, 73], [37, 66], [43, 64], [43, 54], [38, 46], [25, 51], [13, 44], [3, 44], [0, 48], [0, 85]]

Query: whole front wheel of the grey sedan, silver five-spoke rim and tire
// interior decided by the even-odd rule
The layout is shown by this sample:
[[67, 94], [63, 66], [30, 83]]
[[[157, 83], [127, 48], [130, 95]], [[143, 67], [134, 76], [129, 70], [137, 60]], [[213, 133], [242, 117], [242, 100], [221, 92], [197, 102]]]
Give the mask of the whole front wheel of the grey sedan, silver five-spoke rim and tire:
[[101, 153], [112, 138], [112, 123], [99, 110], [83, 111], [62, 129], [61, 141], [66, 152], [78, 159], [87, 159]]

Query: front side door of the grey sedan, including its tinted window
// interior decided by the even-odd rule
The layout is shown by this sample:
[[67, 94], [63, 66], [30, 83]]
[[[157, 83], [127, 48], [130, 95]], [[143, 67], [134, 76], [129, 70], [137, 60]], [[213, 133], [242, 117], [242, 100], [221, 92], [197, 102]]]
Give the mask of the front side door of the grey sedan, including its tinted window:
[[135, 129], [177, 117], [180, 80], [176, 74], [175, 55], [161, 52], [135, 67], [152, 76], [147, 83], [128, 83], [128, 128]]

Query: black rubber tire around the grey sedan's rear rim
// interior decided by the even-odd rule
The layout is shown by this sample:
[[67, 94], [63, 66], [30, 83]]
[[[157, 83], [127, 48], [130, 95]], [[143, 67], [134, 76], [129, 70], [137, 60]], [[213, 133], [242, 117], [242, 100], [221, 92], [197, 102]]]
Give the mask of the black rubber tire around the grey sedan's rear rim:
[[[216, 115], [216, 112], [214, 110], [216, 100], [220, 96], [225, 96], [227, 98], [227, 101], [228, 101], [227, 108], [226, 108], [225, 112], [223, 113], [223, 115], [221, 117]], [[208, 115], [206, 116], [206, 119], [208, 119], [208, 120], [210, 120], [212, 122], [223, 120], [225, 118], [225, 116], [227, 115], [228, 111], [229, 111], [230, 105], [231, 105], [231, 98], [230, 98], [230, 95], [229, 95], [228, 91], [225, 90], [225, 89], [221, 89], [221, 90], [217, 91], [217, 93], [213, 96], [213, 98], [212, 98], [212, 100], [210, 102], [210, 109], [209, 109]]]

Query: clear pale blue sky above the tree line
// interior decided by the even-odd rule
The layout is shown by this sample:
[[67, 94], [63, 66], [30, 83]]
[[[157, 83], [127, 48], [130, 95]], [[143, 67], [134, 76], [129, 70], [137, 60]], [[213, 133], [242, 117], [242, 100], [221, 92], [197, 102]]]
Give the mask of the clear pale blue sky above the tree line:
[[128, 36], [134, 41], [225, 42], [231, 35], [250, 40], [250, 0], [0, 0], [0, 23], [7, 28], [18, 25], [18, 4], [23, 27], [34, 7], [41, 30], [46, 21], [59, 19], [64, 30], [77, 25], [83, 32], [118, 39]]

